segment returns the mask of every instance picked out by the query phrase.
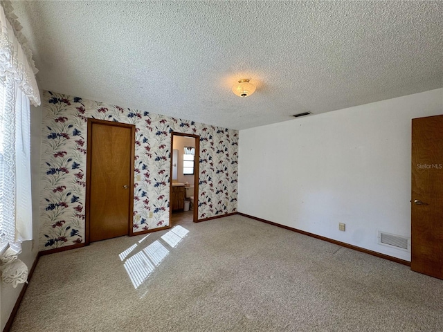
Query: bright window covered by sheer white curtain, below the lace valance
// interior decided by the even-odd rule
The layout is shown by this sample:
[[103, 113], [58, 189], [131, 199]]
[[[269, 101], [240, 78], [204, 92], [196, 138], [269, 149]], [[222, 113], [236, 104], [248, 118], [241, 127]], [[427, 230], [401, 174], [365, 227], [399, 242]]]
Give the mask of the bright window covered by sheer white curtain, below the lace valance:
[[32, 239], [30, 189], [29, 100], [0, 82], [0, 237], [17, 251]]

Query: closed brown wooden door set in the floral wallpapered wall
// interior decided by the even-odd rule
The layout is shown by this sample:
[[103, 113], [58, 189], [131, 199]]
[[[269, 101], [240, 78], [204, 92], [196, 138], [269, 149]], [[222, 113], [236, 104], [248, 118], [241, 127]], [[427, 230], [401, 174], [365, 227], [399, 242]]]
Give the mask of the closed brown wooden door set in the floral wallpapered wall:
[[129, 234], [133, 207], [134, 126], [89, 119], [87, 158], [89, 242]]

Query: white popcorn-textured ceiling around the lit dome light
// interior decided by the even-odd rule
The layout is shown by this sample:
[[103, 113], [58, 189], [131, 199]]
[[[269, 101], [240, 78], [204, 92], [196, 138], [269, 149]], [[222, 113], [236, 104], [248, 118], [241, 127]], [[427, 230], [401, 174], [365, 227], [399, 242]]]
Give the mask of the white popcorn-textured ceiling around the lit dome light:
[[[12, 1], [40, 89], [246, 129], [443, 86], [441, 1]], [[250, 78], [239, 98], [231, 86]]]

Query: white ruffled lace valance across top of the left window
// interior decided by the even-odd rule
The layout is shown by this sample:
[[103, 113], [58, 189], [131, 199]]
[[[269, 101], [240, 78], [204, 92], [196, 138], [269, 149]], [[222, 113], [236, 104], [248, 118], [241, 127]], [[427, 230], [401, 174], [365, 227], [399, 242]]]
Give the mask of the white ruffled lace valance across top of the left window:
[[[16, 86], [29, 98], [34, 106], [40, 104], [40, 93], [35, 80], [37, 69], [34, 66], [32, 53], [28, 48], [26, 38], [19, 32], [21, 26], [17, 17], [12, 13], [9, 1], [1, 1], [0, 6], [0, 79], [14, 80]], [[4, 8], [3, 8], [4, 7]], [[6, 17], [12, 21], [8, 21]], [[21, 41], [17, 39], [16, 34]], [[24, 46], [22, 47], [22, 44]]]

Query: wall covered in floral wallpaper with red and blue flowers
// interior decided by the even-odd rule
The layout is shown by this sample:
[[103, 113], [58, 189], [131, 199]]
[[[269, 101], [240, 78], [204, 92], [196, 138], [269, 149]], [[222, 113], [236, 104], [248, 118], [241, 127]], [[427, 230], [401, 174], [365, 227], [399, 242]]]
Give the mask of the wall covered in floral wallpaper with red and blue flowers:
[[172, 131], [200, 136], [199, 219], [237, 210], [238, 131], [50, 91], [43, 97], [40, 250], [84, 242], [88, 118], [136, 126], [134, 232], [169, 225]]

